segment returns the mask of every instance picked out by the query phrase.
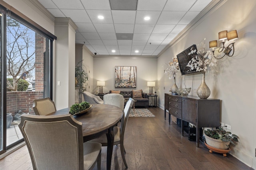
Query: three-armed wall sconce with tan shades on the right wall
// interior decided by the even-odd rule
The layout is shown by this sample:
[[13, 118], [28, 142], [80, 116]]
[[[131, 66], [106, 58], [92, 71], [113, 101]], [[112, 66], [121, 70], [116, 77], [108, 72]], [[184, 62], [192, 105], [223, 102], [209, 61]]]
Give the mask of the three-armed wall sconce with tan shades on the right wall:
[[[228, 41], [233, 41], [235, 39], [238, 39], [236, 30], [233, 30], [230, 32], [228, 32], [227, 30], [219, 32], [219, 40], [222, 40], [222, 47], [220, 47], [218, 52], [221, 53], [224, 50], [223, 51], [224, 55], [221, 58], [216, 58], [214, 56], [216, 59], [222, 59], [225, 55], [227, 55], [228, 57], [232, 57], [234, 55], [234, 52], [235, 52], [234, 43], [235, 42], [232, 42], [230, 45], [228, 45], [228, 47], [225, 47], [224, 44], [225, 44], [226, 39], [228, 39]], [[209, 47], [212, 48], [212, 53], [214, 55], [214, 48], [217, 47], [217, 40], [210, 41]], [[231, 51], [233, 51], [232, 54], [230, 54]]]

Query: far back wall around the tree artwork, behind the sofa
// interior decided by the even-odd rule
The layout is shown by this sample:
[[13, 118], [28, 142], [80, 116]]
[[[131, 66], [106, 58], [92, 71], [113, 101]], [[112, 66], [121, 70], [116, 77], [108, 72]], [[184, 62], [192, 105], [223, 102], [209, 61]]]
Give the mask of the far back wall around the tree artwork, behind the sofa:
[[[115, 66], [136, 66], [137, 67], [137, 87], [136, 88], [115, 88]], [[105, 81], [103, 93], [109, 90], [122, 89], [142, 89], [143, 92], [148, 93], [148, 81], [155, 81], [157, 85], [157, 59], [152, 57], [137, 57], [137, 56], [110, 56], [110, 57], [94, 57], [94, 89], [93, 93], [99, 91], [97, 81]], [[155, 88], [153, 88], [155, 90]]]

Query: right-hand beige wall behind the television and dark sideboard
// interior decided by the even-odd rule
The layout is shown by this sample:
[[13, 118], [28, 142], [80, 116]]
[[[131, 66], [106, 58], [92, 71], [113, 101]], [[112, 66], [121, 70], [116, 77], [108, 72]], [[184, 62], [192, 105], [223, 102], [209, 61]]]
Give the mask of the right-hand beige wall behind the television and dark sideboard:
[[[204, 16], [189, 32], [166, 50], [158, 58], [158, 88], [160, 103], [164, 106], [164, 93], [169, 93], [172, 81], [164, 76], [162, 63], [170, 61], [190, 45], [198, 44], [206, 38], [208, 42], [218, 39], [218, 32], [223, 30], [238, 32], [235, 40], [234, 57], [225, 57], [218, 63], [219, 72], [208, 72], [206, 84], [211, 90], [210, 98], [221, 100], [221, 120], [231, 125], [232, 133], [239, 136], [239, 143], [230, 152], [248, 166], [256, 168], [255, 148], [255, 103], [256, 103], [256, 1], [226, 0]], [[220, 43], [220, 41], [218, 41]], [[196, 96], [196, 90], [202, 81], [201, 74], [186, 75], [186, 86], [192, 87], [190, 95]], [[169, 83], [168, 83], [169, 82]], [[184, 76], [176, 81], [184, 87]], [[168, 86], [163, 90], [162, 86]]]

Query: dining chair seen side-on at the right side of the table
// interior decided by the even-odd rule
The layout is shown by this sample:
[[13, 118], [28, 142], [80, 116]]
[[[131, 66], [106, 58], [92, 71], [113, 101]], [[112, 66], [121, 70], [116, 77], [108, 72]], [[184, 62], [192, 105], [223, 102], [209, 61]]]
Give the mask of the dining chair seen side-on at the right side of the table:
[[[120, 144], [120, 151], [121, 151], [122, 159], [126, 168], [128, 168], [128, 166], [124, 157], [124, 154], [126, 153], [124, 149], [124, 131], [126, 128], [126, 124], [127, 124], [128, 117], [129, 117], [130, 110], [132, 108], [133, 103], [134, 103], [134, 100], [132, 98], [129, 98], [129, 100], [126, 102], [126, 105], [124, 107], [124, 121], [121, 121], [120, 127], [118, 126], [114, 127], [114, 145]], [[102, 135], [101, 137], [97, 139], [93, 139], [91, 141], [101, 143], [103, 147], [106, 147], [108, 145], [108, 140], [106, 135]]]

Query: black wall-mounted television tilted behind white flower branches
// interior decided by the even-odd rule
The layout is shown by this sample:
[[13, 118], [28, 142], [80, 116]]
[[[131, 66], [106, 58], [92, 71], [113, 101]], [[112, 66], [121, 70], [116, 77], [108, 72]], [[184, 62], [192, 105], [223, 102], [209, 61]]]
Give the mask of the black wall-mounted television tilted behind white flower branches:
[[190, 71], [189, 67], [187, 66], [188, 62], [192, 59], [192, 55], [188, 55], [192, 47], [194, 47], [194, 49], [197, 51], [196, 45], [191, 45], [177, 55], [181, 75], [198, 73], [196, 70]]

